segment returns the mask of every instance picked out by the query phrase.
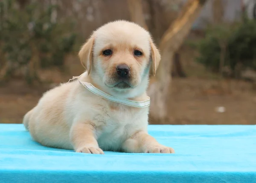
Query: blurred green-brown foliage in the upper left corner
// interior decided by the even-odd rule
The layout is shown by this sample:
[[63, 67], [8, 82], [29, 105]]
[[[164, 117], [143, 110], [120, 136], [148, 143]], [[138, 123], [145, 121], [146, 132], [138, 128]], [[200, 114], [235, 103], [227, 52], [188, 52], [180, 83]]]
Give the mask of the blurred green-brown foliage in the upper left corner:
[[35, 1], [19, 8], [15, 0], [0, 1], [0, 80], [17, 71], [28, 83], [40, 80], [39, 68], [63, 66], [76, 34], [70, 20], [52, 20], [58, 6]]

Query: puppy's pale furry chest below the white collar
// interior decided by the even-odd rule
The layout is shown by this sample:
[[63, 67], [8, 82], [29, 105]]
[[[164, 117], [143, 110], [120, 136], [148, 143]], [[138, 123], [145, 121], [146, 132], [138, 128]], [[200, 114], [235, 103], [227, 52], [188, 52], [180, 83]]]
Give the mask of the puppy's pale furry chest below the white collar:
[[103, 150], [118, 151], [121, 144], [139, 129], [147, 126], [148, 109], [130, 109], [123, 105], [102, 106], [94, 117], [96, 136]]

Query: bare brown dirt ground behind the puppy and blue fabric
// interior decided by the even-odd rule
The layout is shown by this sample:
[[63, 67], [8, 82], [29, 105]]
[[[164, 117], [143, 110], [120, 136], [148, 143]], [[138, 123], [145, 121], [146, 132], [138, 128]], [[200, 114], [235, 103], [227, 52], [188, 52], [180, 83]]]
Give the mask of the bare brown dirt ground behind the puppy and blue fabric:
[[[222, 81], [223, 82], [223, 81]], [[250, 83], [232, 81], [236, 91], [227, 94], [216, 80], [179, 79], [172, 82], [169, 124], [256, 124], [256, 94]], [[0, 123], [22, 123], [44, 90], [29, 89], [19, 82], [0, 89]], [[218, 112], [224, 107], [224, 112]], [[157, 122], [152, 122], [157, 123]]]

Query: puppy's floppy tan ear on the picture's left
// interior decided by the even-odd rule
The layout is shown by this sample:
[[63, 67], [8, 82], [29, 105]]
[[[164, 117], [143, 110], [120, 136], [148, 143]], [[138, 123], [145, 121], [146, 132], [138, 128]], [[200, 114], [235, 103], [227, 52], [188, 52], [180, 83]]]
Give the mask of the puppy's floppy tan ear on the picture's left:
[[90, 74], [91, 66], [93, 63], [93, 44], [94, 37], [90, 37], [89, 40], [87, 40], [87, 42], [82, 46], [78, 54], [81, 64], [87, 70], [88, 75]]

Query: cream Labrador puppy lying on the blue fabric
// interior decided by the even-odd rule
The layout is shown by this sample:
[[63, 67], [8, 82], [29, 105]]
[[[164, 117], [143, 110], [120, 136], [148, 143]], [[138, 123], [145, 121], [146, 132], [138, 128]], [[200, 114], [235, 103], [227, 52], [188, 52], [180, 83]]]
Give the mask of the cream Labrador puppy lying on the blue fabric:
[[[114, 21], [100, 27], [79, 51], [87, 70], [79, 80], [113, 97], [147, 100], [149, 69], [156, 73], [160, 54], [148, 31]], [[174, 153], [147, 132], [149, 107], [106, 100], [77, 80], [49, 90], [23, 118], [35, 141], [44, 146], [104, 154]]]

